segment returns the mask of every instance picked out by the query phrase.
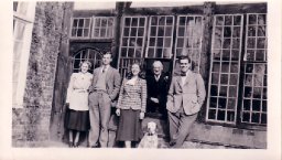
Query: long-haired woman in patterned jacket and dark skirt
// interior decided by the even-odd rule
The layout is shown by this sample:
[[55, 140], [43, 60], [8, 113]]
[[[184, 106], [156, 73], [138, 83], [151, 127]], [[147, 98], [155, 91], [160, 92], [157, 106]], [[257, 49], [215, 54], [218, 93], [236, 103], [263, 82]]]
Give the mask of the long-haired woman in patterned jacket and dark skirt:
[[142, 137], [141, 120], [147, 104], [147, 82], [140, 77], [140, 65], [134, 63], [131, 73], [121, 85], [116, 114], [120, 116], [117, 140], [124, 141], [126, 148]]

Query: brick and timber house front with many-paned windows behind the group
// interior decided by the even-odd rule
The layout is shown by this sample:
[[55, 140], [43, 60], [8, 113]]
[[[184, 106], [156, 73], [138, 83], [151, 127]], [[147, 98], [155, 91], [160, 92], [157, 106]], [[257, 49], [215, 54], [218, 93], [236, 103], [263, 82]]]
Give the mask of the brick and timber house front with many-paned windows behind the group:
[[[57, 12], [50, 12], [54, 8]], [[267, 148], [267, 3], [137, 8], [117, 2], [111, 10], [75, 11], [70, 3], [37, 3], [25, 106], [13, 108], [13, 146], [62, 140], [69, 75], [85, 60], [93, 71], [101, 53], [111, 51], [122, 76], [134, 62], [150, 73], [154, 60], [172, 76], [178, 72], [177, 57], [188, 55], [207, 97], [187, 140]], [[161, 124], [165, 137], [167, 126]]]

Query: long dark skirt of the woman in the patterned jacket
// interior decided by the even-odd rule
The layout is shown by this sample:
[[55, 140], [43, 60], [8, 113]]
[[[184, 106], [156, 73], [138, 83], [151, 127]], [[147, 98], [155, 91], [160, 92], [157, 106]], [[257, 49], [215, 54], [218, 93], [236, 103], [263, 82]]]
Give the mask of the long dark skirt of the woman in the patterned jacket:
[[139, 141], [142, 137], [140, 110], [120, 109], [118, 141]]

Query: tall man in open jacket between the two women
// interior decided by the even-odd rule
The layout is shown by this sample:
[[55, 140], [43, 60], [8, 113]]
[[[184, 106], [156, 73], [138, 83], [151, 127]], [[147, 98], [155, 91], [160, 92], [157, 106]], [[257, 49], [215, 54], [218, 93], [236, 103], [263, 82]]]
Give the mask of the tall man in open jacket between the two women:
[[102, 65], [94, 70], [93, 84], [89, 87], [90, 131], [88, 145], [91, 148], [108, 146], [111, 104], [118, 96], [121, 81], [119, 72], [110, 66], [111, 61], [110, 52], [102, 55]]

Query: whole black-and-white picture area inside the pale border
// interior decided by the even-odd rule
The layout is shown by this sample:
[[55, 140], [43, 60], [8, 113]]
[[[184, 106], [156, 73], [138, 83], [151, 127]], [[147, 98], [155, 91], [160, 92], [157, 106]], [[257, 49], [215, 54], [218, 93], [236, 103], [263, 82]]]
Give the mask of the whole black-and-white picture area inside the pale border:
[[12, 3], [12, 148], [269, 149], [267, 1]]

